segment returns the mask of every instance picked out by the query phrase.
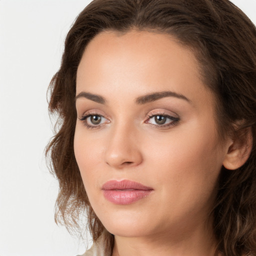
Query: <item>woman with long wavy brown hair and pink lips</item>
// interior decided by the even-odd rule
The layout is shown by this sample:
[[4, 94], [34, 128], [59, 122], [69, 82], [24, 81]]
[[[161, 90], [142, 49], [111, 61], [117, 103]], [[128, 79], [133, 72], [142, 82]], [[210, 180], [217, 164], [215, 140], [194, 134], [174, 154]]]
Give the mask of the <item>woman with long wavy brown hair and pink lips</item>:
[[[56, 218], [84, 255], [256, 255], [256, 30], [228, 0], [94, 0], [49, 110]], [[58, 218], [60, 217], [60, 218]]]

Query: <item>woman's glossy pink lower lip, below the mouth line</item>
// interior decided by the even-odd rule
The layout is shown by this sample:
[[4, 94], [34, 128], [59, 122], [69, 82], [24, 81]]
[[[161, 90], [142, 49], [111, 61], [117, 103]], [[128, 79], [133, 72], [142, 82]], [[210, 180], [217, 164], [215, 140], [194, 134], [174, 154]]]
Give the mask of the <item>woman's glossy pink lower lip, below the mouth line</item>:
[[105, 198], [114, 204], [130, 204], [145, 198], [152, 190], [103, 190]]

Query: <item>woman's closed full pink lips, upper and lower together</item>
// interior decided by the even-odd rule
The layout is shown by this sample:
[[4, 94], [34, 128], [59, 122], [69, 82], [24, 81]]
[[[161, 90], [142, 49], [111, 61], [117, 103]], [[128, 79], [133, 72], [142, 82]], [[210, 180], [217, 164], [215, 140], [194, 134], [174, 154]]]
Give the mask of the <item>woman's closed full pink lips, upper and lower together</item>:
[[131, 180], [109, 180], [102, 186], [105, 198], [114, 204], [130, 204], [146, 197], [152, 188]]

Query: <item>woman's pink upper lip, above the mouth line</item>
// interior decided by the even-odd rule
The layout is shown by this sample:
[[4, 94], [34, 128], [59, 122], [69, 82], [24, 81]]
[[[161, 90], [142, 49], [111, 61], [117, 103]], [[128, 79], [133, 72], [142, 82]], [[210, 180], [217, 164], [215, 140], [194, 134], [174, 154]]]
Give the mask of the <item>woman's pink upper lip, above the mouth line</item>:
[[126, 190], [126, 189], [134, 189], [134, 190], [152, 190], [151, 187], [142, 185], [141, 183], [123, 179], [123, 180], [108, 180], [102, 186], [103, 190]]

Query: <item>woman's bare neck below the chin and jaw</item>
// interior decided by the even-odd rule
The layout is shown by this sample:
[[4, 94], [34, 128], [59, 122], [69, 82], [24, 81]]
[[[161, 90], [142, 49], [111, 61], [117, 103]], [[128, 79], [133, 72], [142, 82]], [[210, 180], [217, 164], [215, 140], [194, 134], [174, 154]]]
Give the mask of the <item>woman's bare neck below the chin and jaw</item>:
[[213, 231], [201, 224], [193, 231], [180, 228], [171, 233], [143, 237], [115, 235], [112, 256], [214, 256], [216, 242]]

